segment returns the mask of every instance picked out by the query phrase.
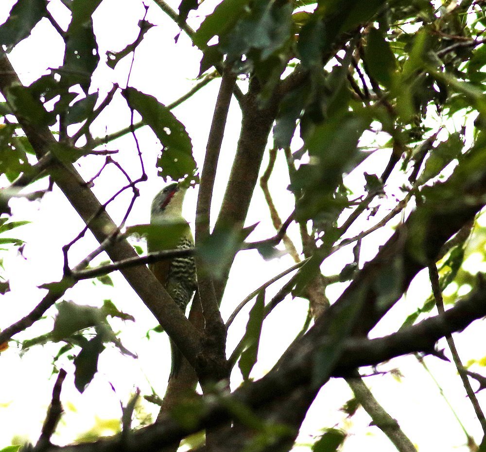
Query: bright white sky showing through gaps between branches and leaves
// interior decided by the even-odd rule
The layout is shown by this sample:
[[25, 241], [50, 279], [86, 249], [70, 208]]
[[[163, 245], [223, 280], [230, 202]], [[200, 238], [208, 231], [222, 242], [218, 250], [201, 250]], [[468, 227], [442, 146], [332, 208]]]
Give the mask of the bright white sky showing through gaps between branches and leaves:
[[[0, 23], [3, 23], [15, 3], [14, 0], [3, 0], [0, 3]], [[137, 89], [154, 95], [157, 99], [169, 104], [186, 93], [195, 83], [194, 78], [199, 71], [200, 52], [191, 46], [186, 35], [181, 34], [178, 43], [174, 44], [174, 36], [178, 28], [165, 14], [152, 2], [147, 20], [156, 24], [146, 35], [135, 55], [135, 63], [130, 76], [130, 85]], [[170, 1], [174, 9], [178, 1]], [[198, 14], [207, 14], [212, 10], [215, 1], [206, 0]], [[69, 23], [69, 14], [60, 0], [52, 0], [49, 5], [52, 15], [66, 28]], [[137, 22], [144, 15], [144, 8], [140, 1], [133, 0], [104, 0], [95, 12], [94, 28], [97, 35], [99, 51], [102, 60], [105, 60], [106, 51], [120, 51], [138, 35]], [[193, 26], [197, 27], [199, 17], [192, 18]], [[33, 34], [21, 42], [9, 54], [12, 65], [17, 70], [22, 82], [26, 85], [32, 83], [40, 75], [46, 73], [47, 68], [56, 68], [62, 64], [63, 43], [61, 38], [52, 29], [47, 19], [39, 23]], [[93, 82], [100, 89], [100, 98], [109, 91], [113, 83], [121, 87], [126, 86], [127, 74], [131, 63], [131, 56], [119, 63], [116, 70], [110, 70], [100, 64], [93, 77]], [[204, 158], [204, 149], [208, 136], [219, 81], [212, 81], [202, 91], [194, 95], [189, 101], [174, 109], [174, 114], [182, 121], [192, 139], [194, 156], [199, 165]], [[92, 129], [93, 136], [103, 136], [128, 125], [130, 112], [121, 96], [97, 121], [98, 128]], [[216, 189], [213, 197], [213, 206], [220, 205], [226, 178], [229, 174], [232, 156], [239, 136], [241, 114], [236, 102], [231, 105], [226, 135], [218, 167]], [[163, 186], [163, 181], [156, 176], [155, 162], [160, 150], [160, 143], [155, 135], [147, 128], [137, 132], [140, 147], [149, 180], [139, 185], [140, 198], [128, 220], [128, 225], [147, 223], [149, 220], [149, 207], [153, 196]], [[110, 143], [107, 149], [117, 149], [114, 156], [132, 178], [140, 174], [136, 148], [131, 135], [127, 135]], [[266, 157], [268, 158], [268, 157]], [[379, 174], [388, 159], [388, 151], [379, 151], [370, 157], [362, 166], [368, 173]], [[266, 159], [263, 168], [266, 165]], [[103, 157], [85, 157], [80, 160], [78, 167], [84, 177], [89, 179], [103, 164]], [[280, 171], [281, 170], [281, 171]], [[271, 178], [271, 189], [274, 202], [282, 219], [287, 218], [293, 207], [293, 196], [286, 190], [288, 179], [285, 174], [285, 162], [279, 156], [274, 176]], [[362, 174], [362, 173], [361, 173]], [[390, 179], [391, 180], [391, 179]], [[4, 177], [0, 177], [2, 186], [8, 185]], [[114, 167], [106, 169], [97, 179], [94, 192], [103, 202], [112, 193], [125, 184], [120, 172]], [[361, 193], [364, 186], [362, 175], [352, 175], [347, 178], [347, 185], [356, 193]], [[399, 184], [397, 184], [399, 185]], [[44, 188], [46, 181], [40, 181], [29, 188], [34, 191]], [[391, 191], [399, 195], [399, 191]], [[194, 221], [196, 191], [188, 192], [185, 203], [186, 218]], [[130, 200], [131, 193], [112, 203], [108, 212], [115, 221], [119, 222]], [[392, 197], [387, 201], [393, 207]], [[11, 281], [11, 292], [2, 297], [3, 312], [0, 328], [5, 328], [21, 316], [28, 313], [41, 299], [44, 291], [37, 288], [39, 284], [58, 280], [62, 275], [61, 247], [69, 243], [84, 226], [68, 201], [54, 188], [41, 202], [29, 203], [18, 199], [10, 203], [14, 212], [14, 220], [31, 220], [33, 223], [16, 230], [16, 237], [26, 241], [24, 258], [16, 252], [7, 253], [5, 268]], [[217, 210], [214, 210], [216, 213]], [[387, 212], [383, 211], [382, 215]], [[213, 214], [212, 220], [215, 220]], [[376, 219], [372, 219], [376, 221]], [[399, 217], [396, 218], [396, 221]], [[261, 191], [257, 188], [247, 225], [259, 222], [259, 226], [250, 237], [259, 240], [271, 237], [273, 230], [263, 200]], [[371, 226], [359, 225], [359, 230]], [[395, 222], [396, 224], [396, 222]], [[289, 229], [291, 236], [296, 236], [295, 226]], [[357, 230], [350, 230], [349, 236]], [[386, 241], [383, 230], [371, 234], [363, 241], [363, 262], [372, 258], [378, 246]], [[88, 252], [96, 247], [96, 242], [87, 234], [87, 237], [77, 243], [69, 254], [70, 265], [74, 266], [83, 259]], [[105, 258], [103, 258], [105, 259]], [[351, 261], [351, 250], [343, 250], [335, 254], [332, 262], [323, 267], [326, 274], [336, 273]], [[98, 260], [99, 261], [99, 260]], [[362, 262], [362, 263], [363, 263]], [[293, 264], [289, 256], [273, 261], [263, 261], [256, 251], [241, 252], [233, 267], [228, 283], [225, 299], [222, 305], [223, 317], [227, 319], [233, 309], [241, 300], [268, 279]], [[159, 395], [163, 395], [170, 368], [169, 343], [165, 334], [153, 334], [151, 340], [146, 340], [147, 330], [156, 326], [156, 321], [143, 306], [139, 298], [133, 293], [126, 281], [118, 274], [112, 275], [115, 288], [111, 289], [101, 284], [93, 285], [91, 281], [84, 281], [69, 290], [65, 299], [73, 300], [79, 304], [100, 305], [104, 298], [110, 298], [122, 311], [135, 316], [136, 322], [121, 323], [115, 319], [111, 324], [114, 330], [123, 330], [121, 340], [123, 345], [138, 354], [134, 360], [120, 354], [117, 349], [110, 348], [103, 352], [99, 362], [99, 372], [87, 390], [81, 395], [73, 385], [73, 366], [66, 359], [62, 365], [68, 371], [68, 378], [63, 386], [62, 401], [66, 414], [58, 428], [58, 435], [54, 438], [59, 444], [73, 441], [95, 425], [106, 423], [106, 433], [111, 433], [113, 419], [121, 417], [120, 401], [126, 404], [130, 394], [139, 387], [142, 394], [150, 394], [151, 386]], [[282, 281], [287, 278], [282, 279]], [[373, 335], [382, 335], [393, 331], [401, 324], [403, 318], [421, 305], [424, 298], [429, 295], [429, 289], [424, 289], [428, 283], [427, 275], [420, 275], [414, 281], [405, 300], [386, 316], [374, 331]], [[275, 294], [280, 287], [276, 284], [268, 289], [267, 297]], [[346, 287], [346, 284], [331, 286], [327, 295], [331, 301]], [[425, 292], [424, 292], [425, 290]], [[269, 299], [269, 298], [268, 298]], [[251, 305], [248, 305], [248, 309]], [[228, 336], [228, 350], [231, 351], [241, 338], [246, 325], [248, 309], [237, 317]], [[17, 339], [35, 337], [47, 332], [52, 326], [52, 316], [55, 311], [48, 311], [48, 319], [35, 324]], [[258, 378], [268, 371], [276, 362], [280, 354], [300, 330], [307, 313], [305, 300], [289, 296], [272, 313], [263, 326], [262, 342], [259, 351], [259, 363], [252, 372], [252, 377]], [[471, 358], [479, 359], [486, 355], [483, 342], [475, 340], [479, 334], [482, 322], [475, 322], [467, 334], [456, 337], [457, 347], [463, 362]], [[442, 346], [444, 347], [444, 346]], [[47, 406], [51, 399], [54, 379], [52, 372], [52, 357], [57, 352], [58, 345], [47, 345], [43, 348], [35, 347], [20, 356], [19, 349], [13, 344], [0, 356], [2, 369], [2, 385], [0, 389], [0, 449], [11, 443], [23, 440], [35, 441], [44, 420]], [[435, 378], [444, 388], [447, 398], [457, 411], [461, 421], [466, 425], [470, 434], [476, 441], [481, 439], [479, 422], [466, 398], [459, 377], [453, 365], [441, 362], [436, 358], [426, 359]], [[383, 365], [383, 369], [399, 367], [404, 377], [401, 381], [390, 375], [375, 376], [365, 379], [371, 386], [375, 397], [389, 411], [392, 417], [397, 418], [405, 434], [419, 445], [420, 451], [467, 451], [464, 446], [466, 440], [459, 424], [441, 398], [432, 379], [422, 370], [414, 357], [404, 357]], [[238, 368], [232, 376], [232, 387], [241, 382]], [[113, 385], [115, 392], [110, 384]], [[345, 414], [339, 412], [339, 407], [352, 397], [350, 389], [342, 380], [333, 380], [320, 392], [316, 402], [312, 405], [308, 417], [304, 422], [299, 441], [302, 444], [312, 442], [312, 435], [319, 435], [324, 427], [349, 426], [350, 437], [347, 439], [343, 451], [394, 451], [388, 439], [376, 427], [367, 427], [369, 417], [361, 409], [351, 421], [345, 421]], [[485, 401], [482, 393], [479, 400]], [[486, 405], [485, 405], [486, 406]], [[156, 415], [155, 405], [144, 403], [147, 412]], [[102, 421], [100, 421], [102, 419]], [[349, 423], [350, 422], [350, 423]], [[116, 422], [115, 422], [116, 424]], [[297, 447], [296, 450], [307, 450]]]

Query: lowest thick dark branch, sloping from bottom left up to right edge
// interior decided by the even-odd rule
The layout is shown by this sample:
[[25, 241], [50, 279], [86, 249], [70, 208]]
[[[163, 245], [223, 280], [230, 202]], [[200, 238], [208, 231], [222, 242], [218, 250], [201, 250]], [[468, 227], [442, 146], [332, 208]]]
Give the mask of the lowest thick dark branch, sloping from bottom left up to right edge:
[[[455, 306], [442, 315], [428, 318], [411, 326], [406, 330], [378, 339], [348, 339], [332, 376], [352, 376], [354, 369], [363, 365], [376, 365], [385, 360], [413, 352], [430, 353], [434, 351], [434, 344], [440, 338], [454, 331], [463, 330], [472, 321], [486, 315], [486, 286], [480, 282], [476, 290], [467, 298], [458, 301]], [[122, 448], [125, 452], [144, 450], [156, 451], [166, 445], [203, 428], [217, 426], [234, 417], [234, 404], [243, 404], [250, 410], [258, 410], [268, 404], [282, 403], [282, 398], [296, 399], [293, 395], [307, 398], [306, 405], [312, 402], [312, 394], [320, 387], [310, 384], [313, 377], [313, 361], [318, 357], [318, 350], [325, 344], [327, 337], [320, 338], [298, 362], [292, 365], [282, 365], [278, 370], [269, 372], [256, 382], [243, 385], [230, 396], [211, 397], [205, 404], [205, 409], [198, 408], [201, 416], [191, 417], [191, 426], [183, 427], [179, 421], [170, 417], [162, 417], [160, 422], [133, 432], [128, 438], [120, 442], [119, 437], [102, 439], [95, 443], [77, 444], [63, 448], [50, 447], [46, 452], [115, 452]], [[302, 400], [300, 397], [299, 400]], [[200, 403], [204, 403], [203, 400]], [[197, 405], [196, 403], [196, 406]], [[194, 408], [196, 408], [196, 406]], [[283, 410], [288, 415], [292, 406]], [[282, 412], [282, 416], [284, 415]], [[227, 430], [226, 438], [230, 440], [231, 430]], [[220, 449], [220, 451], [231, 449]]]

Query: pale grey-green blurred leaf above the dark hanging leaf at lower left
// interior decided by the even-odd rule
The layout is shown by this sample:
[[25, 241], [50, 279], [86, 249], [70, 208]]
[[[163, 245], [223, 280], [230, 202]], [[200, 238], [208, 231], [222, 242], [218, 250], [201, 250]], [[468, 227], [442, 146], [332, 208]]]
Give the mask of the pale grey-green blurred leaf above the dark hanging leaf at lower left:
[[57, 315], [52, 330], [54, 341], [61, 341], [76, 331], [99, 325], [104, 321], [103, 312], [94, 306], [79, 306], [71, 301], [57, 304]]

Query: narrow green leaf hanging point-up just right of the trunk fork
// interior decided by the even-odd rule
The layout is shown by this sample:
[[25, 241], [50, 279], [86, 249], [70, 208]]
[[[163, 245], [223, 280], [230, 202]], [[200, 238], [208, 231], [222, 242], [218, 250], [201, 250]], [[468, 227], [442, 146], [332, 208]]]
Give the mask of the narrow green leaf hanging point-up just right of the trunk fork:
[[248, 380], [251, 369], [257, 362], [258, 346], [260, 344], [261, 324], [263, 322], [263, 313], [265, 310], [265, 291], [262, 290], [257, 295], [257, 301], [250, 311], [246, 331], [243, 341], [246, 348], [242, 353], [238, 366], [244, 380]]

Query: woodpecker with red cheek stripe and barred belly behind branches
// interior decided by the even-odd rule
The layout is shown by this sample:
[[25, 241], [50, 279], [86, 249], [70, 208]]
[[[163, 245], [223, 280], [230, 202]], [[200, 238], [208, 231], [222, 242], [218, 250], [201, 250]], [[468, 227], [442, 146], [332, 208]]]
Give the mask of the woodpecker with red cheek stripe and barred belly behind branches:
[[[150, 224], [155, 227], [147, 241], [149, 253], [194, 246], [191, 228], [182, 216], [182, 202], [185, 194], [186, 188], [177, 183], [170, 184], [157, 193], [150, 212]], [[183, 313], [186, 313], [186, 307], [197, 288], [194, 258], [192, 256], [176, 257], [172, 260], [149, 264], [149, 268], [175, 304]], [[170, 343], [172, 365], [169, 379], [178, 374], [182, 360], [182, 353], [172, 339]]]

